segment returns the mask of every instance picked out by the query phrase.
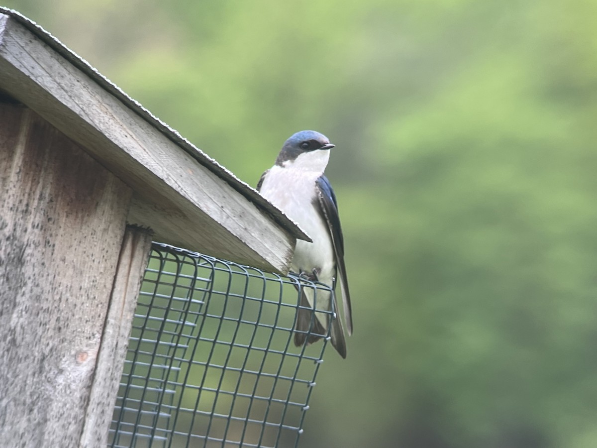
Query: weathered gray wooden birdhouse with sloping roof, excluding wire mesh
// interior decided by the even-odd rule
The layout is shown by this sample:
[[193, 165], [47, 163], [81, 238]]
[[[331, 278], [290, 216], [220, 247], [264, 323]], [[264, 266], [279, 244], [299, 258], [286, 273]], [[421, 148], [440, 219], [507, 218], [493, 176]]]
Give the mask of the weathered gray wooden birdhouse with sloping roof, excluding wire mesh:
[[0, 446], [106, 446], [152, 239], [287, 272], [306, 235], [0, 9]]

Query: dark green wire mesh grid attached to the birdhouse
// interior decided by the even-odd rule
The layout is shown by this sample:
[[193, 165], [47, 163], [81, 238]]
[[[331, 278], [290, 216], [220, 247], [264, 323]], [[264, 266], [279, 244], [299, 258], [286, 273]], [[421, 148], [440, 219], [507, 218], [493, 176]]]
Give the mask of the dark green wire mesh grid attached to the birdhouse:
[[298, 287], [330, 290], [154, 243], [109, 446], [296, 447], [329, 340], [291, 343]]

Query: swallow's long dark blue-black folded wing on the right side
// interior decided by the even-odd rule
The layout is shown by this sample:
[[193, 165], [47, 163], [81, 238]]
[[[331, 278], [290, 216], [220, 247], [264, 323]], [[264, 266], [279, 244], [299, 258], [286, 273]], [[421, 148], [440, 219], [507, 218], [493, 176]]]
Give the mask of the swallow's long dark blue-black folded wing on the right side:
[[342, 291], [342, 304], [344, 308], [344, 320], [348, 334], [352, 334], [352, 308], [350, 306], [350, 292], [348, 290], [348, 280], [346, 278], [346, 265], [344, 264], [344, 238], [342, 237], [342, 228], [340, 226], [340, 216], [338, 216], [338, 204], [336, 195], [330, 185], [327, 177], [321, 176], [315, 181], [319, 213], [327, 223], [328, 231], [334, 246], [336, 254], [336, 275]]

